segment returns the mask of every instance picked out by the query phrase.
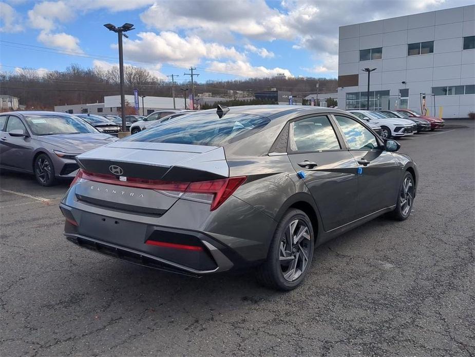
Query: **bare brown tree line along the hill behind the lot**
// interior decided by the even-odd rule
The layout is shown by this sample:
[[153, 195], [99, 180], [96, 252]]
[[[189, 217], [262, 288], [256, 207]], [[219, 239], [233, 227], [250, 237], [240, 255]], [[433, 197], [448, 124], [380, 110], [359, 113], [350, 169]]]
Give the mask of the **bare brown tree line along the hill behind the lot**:
[[[126, 65], [124, 81], [126, 94], [132, 94], [137, 88], [141, 95], [172, 97], [171, 81], [159, 79], [145, 68]], [[118, 95], [120, 80], [117, 66], [103, 69], [71, 64], [64, 71], [17, 68], [15, 72], [1, 72], [0, 82], [0, 94], [20, 98], [26, 109], [52, 110], [54, 105], [102, 102], [104, 96]], [[320, 93], [336, 92], [336, 79], [273, 77], [195, 82], [195, 93], [211, 93], [212, 96], [232, 100], [253, 97], [255, 92], [276, 88], [305, 97], [315, 93], [317, 83]], [[191, 88], [191, 83], [176, 84], [177, 97], [182, 96], [180, 88]]]

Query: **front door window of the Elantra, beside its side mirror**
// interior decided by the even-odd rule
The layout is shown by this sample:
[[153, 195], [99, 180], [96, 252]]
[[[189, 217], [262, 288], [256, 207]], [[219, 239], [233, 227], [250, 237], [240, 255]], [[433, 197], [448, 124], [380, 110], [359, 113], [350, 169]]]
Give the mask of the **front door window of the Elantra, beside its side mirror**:
[[335, 116], [351, 150], [371, 150], [378, 148], [376, 137], [362, 124], [344, 116]]

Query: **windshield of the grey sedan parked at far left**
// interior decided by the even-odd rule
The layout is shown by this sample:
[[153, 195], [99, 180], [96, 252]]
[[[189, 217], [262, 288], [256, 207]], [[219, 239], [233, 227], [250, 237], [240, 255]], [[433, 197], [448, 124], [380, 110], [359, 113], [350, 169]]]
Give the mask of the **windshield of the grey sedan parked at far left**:
[[25, 120], [34, 135], [98, 133], [88, 123], [72, 115], [28, 115]]

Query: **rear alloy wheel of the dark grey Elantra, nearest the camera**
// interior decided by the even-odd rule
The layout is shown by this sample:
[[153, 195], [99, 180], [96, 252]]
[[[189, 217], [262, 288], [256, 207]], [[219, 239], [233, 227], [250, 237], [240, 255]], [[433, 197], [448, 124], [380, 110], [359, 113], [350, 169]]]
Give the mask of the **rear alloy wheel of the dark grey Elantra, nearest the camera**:
[[293, 220], [280, 240], [279, 261], [284, 279], [295, 281], [307, 269], [310, 248], [310, 230], [301, 219]]

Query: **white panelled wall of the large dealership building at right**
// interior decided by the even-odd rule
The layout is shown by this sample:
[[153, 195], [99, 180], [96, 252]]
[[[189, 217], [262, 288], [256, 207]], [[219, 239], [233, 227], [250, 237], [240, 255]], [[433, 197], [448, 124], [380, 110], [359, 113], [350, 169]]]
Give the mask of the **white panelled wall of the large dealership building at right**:
[[[370, 91], [390, 91], [397, 96], [409, 89], [410, 109], [420, 110], [420, 93], [432, 87], [475, 84], [475, 49], [463, 50], [463, 37], [475, 35], [475, 5], [394, 17], [339, 28], [338, 76], [358, 75], [358, 85], [338, 88], [339, 108], [346, 108], [346, 93], [366, 92], [366, 67], [371, 73]], [[407, 55], [410, 43], [434, 41], [433, 53]], [[383, 47], [380, 60], [359, 61], [359, 50]], [[402, 83], [406, 82], [406, 84]], [[434, 114], [433, 99], [427, 107]], [[475, 111], [475, 95], [435, 97], [438, 115], [466, 117]]]

